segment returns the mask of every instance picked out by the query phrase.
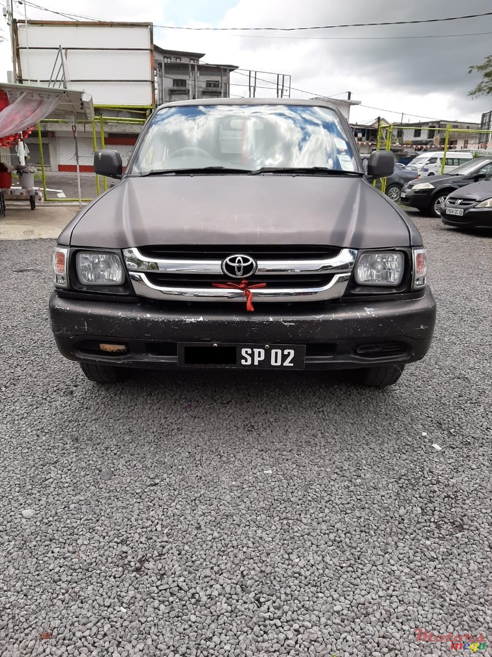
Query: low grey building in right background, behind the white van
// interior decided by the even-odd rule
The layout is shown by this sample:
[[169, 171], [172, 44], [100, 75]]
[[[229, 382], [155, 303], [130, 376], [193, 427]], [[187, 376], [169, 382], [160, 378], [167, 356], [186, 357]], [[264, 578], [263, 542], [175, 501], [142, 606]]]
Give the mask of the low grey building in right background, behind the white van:
[[[423, 121], [412, 123], [411, 127], [395, 127], [393, 139], [401, 145], [443, 147], [448, 124], [451, 125], [448, 141], [449, 148], [472, 148], [478, 146], [480, 124], [471, 121]], [[476, 130], [477, 133], [453, 132], [453, 128]]]

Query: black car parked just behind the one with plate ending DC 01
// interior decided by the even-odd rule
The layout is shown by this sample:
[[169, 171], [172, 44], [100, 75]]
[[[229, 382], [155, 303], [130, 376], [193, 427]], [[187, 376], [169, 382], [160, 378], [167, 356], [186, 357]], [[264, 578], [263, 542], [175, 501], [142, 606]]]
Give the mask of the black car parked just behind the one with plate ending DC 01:
[[491, 175], [492, 158], [476, 158], [447, 175], [436, 175], [428, 181], [410, 181], [401, 190], [400, 200], [404, 205], [417, 208], [422, 214], [440, 217], [441, 205], [448, 194]]

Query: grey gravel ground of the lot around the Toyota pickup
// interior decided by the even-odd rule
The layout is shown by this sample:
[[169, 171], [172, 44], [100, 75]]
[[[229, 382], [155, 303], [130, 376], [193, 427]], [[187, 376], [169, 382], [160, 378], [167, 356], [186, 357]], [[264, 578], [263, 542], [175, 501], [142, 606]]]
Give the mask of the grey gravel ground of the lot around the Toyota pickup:
[[417, 223], [436, 336], [383, 392], [100, 388], [51, 338], [54, 242], [0, 242], [2, 656], [492, 655], [492, 232]]

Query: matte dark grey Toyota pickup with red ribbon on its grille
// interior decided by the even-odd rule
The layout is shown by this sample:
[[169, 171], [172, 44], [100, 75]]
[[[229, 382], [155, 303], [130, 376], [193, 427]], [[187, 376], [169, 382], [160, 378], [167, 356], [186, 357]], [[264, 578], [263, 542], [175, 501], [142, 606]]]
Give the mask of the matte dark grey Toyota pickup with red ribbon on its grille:
[[[371, 177], [391, 175], [375, 152]], [[157, 108], [112, 189], [58, 237], [51, 327], [87, 378], [131, 367], [350, 370], [380, 388], [428, 351], [436, 302], [409, 217], [326, 102]]]

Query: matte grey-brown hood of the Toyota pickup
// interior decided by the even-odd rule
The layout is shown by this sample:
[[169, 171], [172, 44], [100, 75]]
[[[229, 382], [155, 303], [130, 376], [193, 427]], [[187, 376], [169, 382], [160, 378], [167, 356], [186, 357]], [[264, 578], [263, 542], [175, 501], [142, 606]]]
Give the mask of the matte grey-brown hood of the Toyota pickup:
[[[71, 233], [71, 235], [70, 235]], [[128, 177], [94, 199], [59, 244], [419, 245], [419, 232], [359, 177], [160, 175]]]

